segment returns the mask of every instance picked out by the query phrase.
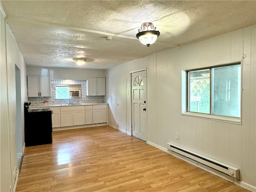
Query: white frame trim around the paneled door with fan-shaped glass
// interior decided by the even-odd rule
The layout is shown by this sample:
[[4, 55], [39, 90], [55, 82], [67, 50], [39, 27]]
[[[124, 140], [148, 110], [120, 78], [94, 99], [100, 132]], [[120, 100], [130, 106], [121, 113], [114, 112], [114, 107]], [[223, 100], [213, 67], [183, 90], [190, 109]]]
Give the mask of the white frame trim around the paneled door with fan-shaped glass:
[[[146, 108], [148, 107], [148, 73], [147, 73], [147, 68], [142, 68], [142, 69], [138, 69], [138, 70], [134, 70], [134, 71], [130, 71], [130, 82], [131, 82], [131, 86], [130, 86], [130, 102], [131, 102], [131, 136], [133, 136], [133, 121], [132, 121], [132, 73], [136, 73], [136, 72], [140, 72], [140, 71], [145, 71], [146, 72], [146, 77], [147, 77], [147, 82], [146, 82]], [[146, 113], [146, 141], [148, 140], [148, 113]]]

